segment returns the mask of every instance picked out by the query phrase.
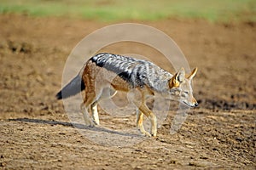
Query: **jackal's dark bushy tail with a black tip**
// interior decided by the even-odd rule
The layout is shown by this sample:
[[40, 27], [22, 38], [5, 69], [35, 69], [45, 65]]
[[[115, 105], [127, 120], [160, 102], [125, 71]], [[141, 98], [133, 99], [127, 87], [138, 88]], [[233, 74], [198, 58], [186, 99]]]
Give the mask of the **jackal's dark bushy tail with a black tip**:
[[61, 89], [61, 91], [56, 94], [57, 99], [66, 99], [75, 94], [79, 94], [79, 92], [83, 91], [85, 88], [84, 81], [80, 74], [74, 77], [72, 81], [68, 82], [67, 85]]

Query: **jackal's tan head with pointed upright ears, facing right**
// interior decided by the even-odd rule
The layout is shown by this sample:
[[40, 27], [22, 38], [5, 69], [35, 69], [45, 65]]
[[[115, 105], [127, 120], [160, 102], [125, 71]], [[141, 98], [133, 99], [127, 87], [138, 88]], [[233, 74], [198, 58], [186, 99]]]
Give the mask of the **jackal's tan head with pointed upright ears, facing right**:
[[189, 76], [186, 76], [185, 71], [181, 68], [172, 79], [169, 81], [171, 99], [178, 100], [189, 107], [198, 105], [193, 96], [192, 79], [195, 77], [197, 68], [195, 68]]

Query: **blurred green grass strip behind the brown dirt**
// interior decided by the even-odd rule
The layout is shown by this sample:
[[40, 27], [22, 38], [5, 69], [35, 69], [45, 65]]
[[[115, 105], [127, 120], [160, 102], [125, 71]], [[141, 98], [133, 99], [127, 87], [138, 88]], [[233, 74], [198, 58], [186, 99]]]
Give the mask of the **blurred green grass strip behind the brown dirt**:
[[256, 21], [256, 0], [0, 0], [0, 14], [90, 20], [203, 19]]

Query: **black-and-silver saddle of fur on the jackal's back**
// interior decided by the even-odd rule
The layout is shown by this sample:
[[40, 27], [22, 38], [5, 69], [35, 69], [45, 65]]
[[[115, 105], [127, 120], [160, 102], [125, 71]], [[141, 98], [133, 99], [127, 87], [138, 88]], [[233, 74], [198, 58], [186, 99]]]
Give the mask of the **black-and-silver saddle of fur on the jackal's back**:
[[96, 54], [90, 59], [97, 66], [113, 71], [129, 83], [131, 88], [147, 85], [155, 91], [162, 92], [168, 88], [172, 74], [154, 63], [144, 59], [134, 59], [118, 54]]

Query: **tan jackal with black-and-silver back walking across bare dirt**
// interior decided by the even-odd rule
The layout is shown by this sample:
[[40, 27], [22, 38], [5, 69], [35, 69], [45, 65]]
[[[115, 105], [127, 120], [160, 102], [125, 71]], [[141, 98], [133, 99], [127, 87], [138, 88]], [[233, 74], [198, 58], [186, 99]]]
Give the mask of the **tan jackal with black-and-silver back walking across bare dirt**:
[[[118, 54], [96, 54], [83, 66], [79, 74], [56, 94], [57, 99], [65, 99], [84, 90], [84, 102], [81, 104], [86, 125], [99, 124], [97, 103], [106, 97], [113, 97], [117, 91], [129, 92], [136, 89], [133, 99], [137, 106], [137, 127], [146, 136], [156, 136], [157, 120], [154, 113], [148, 109], [148, 95], [160, 94], [166, 99], [174, 99], [189, 107], [198, 105], [193, 97], [192, 78], [197, 68], [189, 76], [183, 68], [172, 75], [154, 63], [144, 59], [134, 59]], [[110, 90], [109, 90], [110, 89]], [[92, 120], [87, 115], [90, 108]], [[143, 127], [143, 115], [151, 122], [151, 132]]]

